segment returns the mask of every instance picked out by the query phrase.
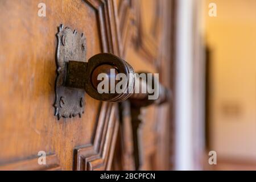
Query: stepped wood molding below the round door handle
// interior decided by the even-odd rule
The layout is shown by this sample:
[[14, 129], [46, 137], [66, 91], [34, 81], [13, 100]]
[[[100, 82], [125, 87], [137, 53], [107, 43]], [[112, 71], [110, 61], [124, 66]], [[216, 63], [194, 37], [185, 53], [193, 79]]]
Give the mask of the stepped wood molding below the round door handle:
[[118, 120], [117, 105], [103, 102], [92, 144], [75, 149], [75, 170], [93, 171], [111, 168], [119, 127]]

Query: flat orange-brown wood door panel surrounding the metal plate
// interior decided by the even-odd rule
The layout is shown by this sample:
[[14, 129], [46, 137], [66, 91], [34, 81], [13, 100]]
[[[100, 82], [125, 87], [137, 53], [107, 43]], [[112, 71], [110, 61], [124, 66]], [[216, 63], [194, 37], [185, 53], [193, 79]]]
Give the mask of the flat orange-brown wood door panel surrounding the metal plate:
[[46, 151], [56, 154], [62, 169], [72, 169], [75, 147], [91, 143], [100, 102], [86, 95], [82, 117], [60, 121], [53, 102], [57, 27], [63, 23], [83, 32], [88, 57], [102, 52], [106, 38], [97, 2], [45, 1], [46, 17], [38, 16], [40, 1], [0, 2], [1, 164]]

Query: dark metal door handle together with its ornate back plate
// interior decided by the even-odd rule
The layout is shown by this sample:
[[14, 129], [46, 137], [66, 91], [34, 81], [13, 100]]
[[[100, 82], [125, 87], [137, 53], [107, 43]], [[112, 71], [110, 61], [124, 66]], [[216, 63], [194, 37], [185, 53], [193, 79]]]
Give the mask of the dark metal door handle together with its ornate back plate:
[[[135, 84], [137, 75], [134, 69], [126, 61], [112, 53], [98, 53], [86, 61], [86, 40], [83, 34], [78, 34], [71, 28], [59, 27], [57, 34], [57, 78], [56, 78], [56, 100], [55, 115], [60, 117], [75, 117], [84, 113], [85, 92], [90, 97], [108, 102], [122, 102], [130, 98], [137, 106], [147, 106], [155, 102], [148, 100], [149, 93], [134, 93], [134, 89], [146, 86], [147, 83]], [[125, 91], [122, 93], [100, 93], [97, 90], [99, 81], [97, 76], [105, 73], [113, 77], [111, 69], [115, 73], [126, 76]], [[160, 92], [157, 103], [162, 103], [168, 98], [168, 90], [159, 85]]]

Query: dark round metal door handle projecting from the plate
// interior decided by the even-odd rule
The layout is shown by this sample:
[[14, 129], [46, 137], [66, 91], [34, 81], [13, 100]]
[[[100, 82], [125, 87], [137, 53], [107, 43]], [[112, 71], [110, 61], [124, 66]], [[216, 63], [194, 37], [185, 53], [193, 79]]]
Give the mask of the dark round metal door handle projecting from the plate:
[[[111, 71], [112, 70], [112, 71]], [[98, 75], [103, 73], [108, 80], [114, 79], [118, 73], [126, 76], [126, 88], [124, 92], [116, 93], [115, 89], [110, 90], [109, 93], [99, 93], [97, 90], [100, 80]], [[112, 74], [113, 73], [113, 74]], [[170, 94], [168, 89], [159, 84], [159, 97], [157, 100], [148, 100], [150, 93], [135, 93], [135, 90], [147, 90], [147, 81], [141, 80], [134, 69], [126, 61], [113, 55], [112, 53], [99, 53], [90, 57], [88, 63], [81, 61], [69, 61], [67, 64], [67, 76], [65, 78], [65, 86], [69, 88], [84, 89], [89, 96], [100, 101], [122, 102], [130, 98], [137, 105], [146, 106], [152, 103], [163, 103], [168, 100]], [[136, 81], [137, 80], [137, 81]], [[111, 82], [111, 81], [110, 81]], [[115, 85], [118, 82], [115, 81]], [[114, 92], [111, 92], [114, 91]]]

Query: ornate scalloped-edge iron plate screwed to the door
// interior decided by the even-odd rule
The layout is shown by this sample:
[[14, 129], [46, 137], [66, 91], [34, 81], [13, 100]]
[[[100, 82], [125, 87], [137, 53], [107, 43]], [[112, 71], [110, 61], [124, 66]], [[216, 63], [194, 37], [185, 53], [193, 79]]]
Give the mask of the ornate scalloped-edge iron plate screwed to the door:
[[78, 33], [69, 27], [60, 24], [57, 33], [57, 77], [55, 81], [55, 115], [72, 118], [76, 115], [81, 117], [84, 113], [84, 89], [74, 89], [65, 86], [67, 75], [67, 63], [70, 60], [86, 62], [86, 38], [84, 34]]

